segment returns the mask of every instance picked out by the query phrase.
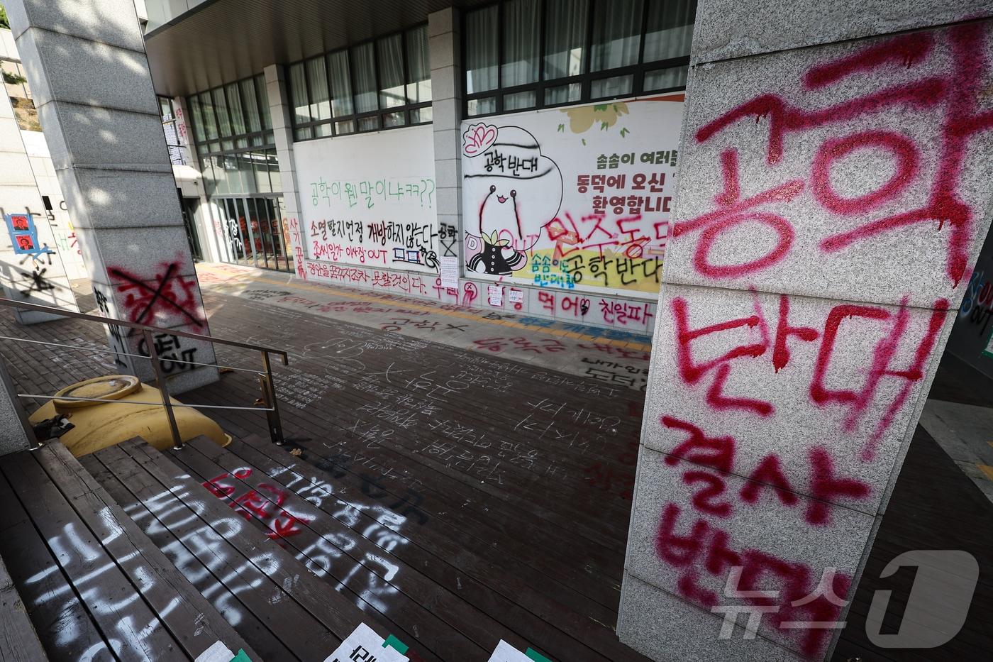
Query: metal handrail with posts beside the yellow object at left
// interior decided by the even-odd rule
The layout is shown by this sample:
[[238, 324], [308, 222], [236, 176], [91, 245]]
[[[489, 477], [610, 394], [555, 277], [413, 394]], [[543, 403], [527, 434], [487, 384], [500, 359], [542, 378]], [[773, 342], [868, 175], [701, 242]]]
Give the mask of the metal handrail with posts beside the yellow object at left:
[[[127, 352], [113, 352], [114, 354], [124, 354], [125, 356], [137, 356], [142, 359], [149, 359], [152, 363], [152, 369], [155, 371], [155, 385], [159, 389], [159, 395], [162, 398], [162, 407], [166, 412], [166, 417], [169, 420], [169, 429], [173, 437], [173, 448], [175, 450], [180, 450], [183, 448], [183, 440], [180, 435], [179, 425], [176, 422], [176, 414], [173, 412], [173, 407], [202, 407], [204, 409], [229, 409], [229, 410], [255, 410], [260, 412], [265, 412], [266, 419], [269, 426], [269, 435], [272, 438], [273, 443], [276, 445], [283, 445], [285, 439], [283, 438], [283, 425], [282, 421], [279, 419], [279, 407], [276, 403], [276, 388], [272, 380], [272, 366], [269, 361], [270, 354], [276, 354], [283, 359], [283, 365], [289, 365], [289, 356], [283, 350], [278, 350], [271, 347], [264, 347], [261, 345], [252, 345], [250, 343], [237, 342], [235, 340], [225, 340], [223, 338], [214, 338], [213, 336], [205, 336], [200, 333], [188, 333], [186, 331], [177, 331], [175, 329], [166, 329], [158, 326], [149, 326], [147, 324], [138, 324], [136, 322], [127, 322], [122, 319], [115, 319], [113, 317], [104, 317], [101, 315], [90, 315], [88, 313], [75, 312], [73, 310], [63, 310], [61, 308], [55, 308], [52, 306], [43, 306], [37, 303], [28, 303], [27, 301], [15, 301], [13, 299], [8, 299], [0, 297], [0, 305], [7, 306], [11, 308], [21, 308], [24, 310], [37, 310], [39, 312], [45, 312], [52, 315], [58, 315], [61, 317], [71, 317], [73, 319], [81, 319], [87, 322], [95, 322], [97, 324], [107, 324], [115, 326], [123, 326], [126, 328], [134, 329], [141, 332], [145, 339], [145, 346], [148, 348], [148, 356], [134, 355]], [[155, 342], [153, 341], [153, 333], [166, 333], [173, 336], [179, 336], [182, 338], [192, 338], [194, 340], [202, 340], [208, 343], [218, 343], [221, 345], [228, 345], [230, 347], [240, 347], [242, 349], [250, 349], [256, 352], [260, 352], [262, 355], [262, 370], [261, 371], [246, 371], [254, 372], [258, 375], [259, 386], [262, 389], [262, 397], [259, 399], [260, 402], [265, 407], [224, 407], [220, 405], [186, 405], [183, 403], [177, 403], [175, 406], [169, 397], [169, 386], [166, 383], [166, 377], [162, 374], [162, 359], [159, 358], [159, 353], [155, 347]], [[12, 338], [12, 340], [27, 340]], [[42, 341], [30, 341], [29, 342], [40, 342], [46, 345], [56, 345], [57, 343], [44, 343]], [[71, 347], [67, 345], [66, 347]], [[82, 348], [76, 348], [82, 349]], [[110, 353], [110, 352], [108, 352]], [[170, 360], [173, 362], [172, 360]], [[193, 363], [190, 361], [176, 361], [173, 363]], [[209, 364], [198, 364], [198, 365], [209, 365]], [[245, 370], [235, 369], [235, 370]], [[3, 366], [2, 357], [0, 357], [0, 380], [3, 381], [5, 386], [11, 393], [15, 393], [12, 388], [10, 378], [7, 375], [6, 368]], [[158, 403], [135, 403], [129, 401], [109, 401], [106, 399], [92, 399], [92, 398], [72, 398], [66, 396], [35, 396], [31, 394], [17, 394], [19, 398], [33, 398], [33, 399], [43, 399], [43, 400], [71, 400], [71, 401], [92, 401], [92, 402], [114, 402], [118, 404], [133, 404], [133, 405], [158, 405]], [[29, 438], [34, 439], [34, 432], [27, 422], [26, 416], [23, 415], [23, 408], [19, 414], [22, 418], [22, 423], [25, 425], [25, 431], [29, 435]], [[37, 440], [36, 440], [37, 445]]]

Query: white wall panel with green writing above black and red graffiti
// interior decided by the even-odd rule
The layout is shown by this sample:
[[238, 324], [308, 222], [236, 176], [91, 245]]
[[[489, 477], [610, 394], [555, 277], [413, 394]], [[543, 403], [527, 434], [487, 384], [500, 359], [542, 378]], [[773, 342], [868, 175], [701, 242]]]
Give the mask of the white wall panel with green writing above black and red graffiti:
[[295, 143], [306, 256], [438, 273], [430, 125]]

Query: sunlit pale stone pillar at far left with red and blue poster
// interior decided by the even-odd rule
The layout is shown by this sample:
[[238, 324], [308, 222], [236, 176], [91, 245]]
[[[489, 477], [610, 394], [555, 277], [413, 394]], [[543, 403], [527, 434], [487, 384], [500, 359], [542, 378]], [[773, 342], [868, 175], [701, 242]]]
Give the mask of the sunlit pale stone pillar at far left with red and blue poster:
[[[29, 83], [30, 84], [30, 83]], [[0, 94], [0, 280], [15, 301], [79, 312], [6, 90]], [[65, 319], [14, 309], [21, 324]]]

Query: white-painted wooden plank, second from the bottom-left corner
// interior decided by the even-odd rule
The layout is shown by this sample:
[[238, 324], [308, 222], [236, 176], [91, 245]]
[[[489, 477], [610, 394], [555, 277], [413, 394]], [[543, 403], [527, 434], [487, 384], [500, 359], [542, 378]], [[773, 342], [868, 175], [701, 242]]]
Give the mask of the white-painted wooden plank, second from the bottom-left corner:
[[31, 523], [20, 498], [0, 473], [0, 556], [18, 587], [49, 658], [77, 662], [113, 655], [69, 579]]

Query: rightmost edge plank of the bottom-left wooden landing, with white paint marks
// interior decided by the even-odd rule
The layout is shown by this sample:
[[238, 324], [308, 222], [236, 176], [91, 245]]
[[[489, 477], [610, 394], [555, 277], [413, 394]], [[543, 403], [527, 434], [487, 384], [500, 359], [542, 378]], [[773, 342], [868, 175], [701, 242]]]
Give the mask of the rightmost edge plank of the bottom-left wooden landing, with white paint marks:
[[196, 659], [217, 640], [254, 653], [65, 446], [50, 443], [35, 459], [186, 655]]

